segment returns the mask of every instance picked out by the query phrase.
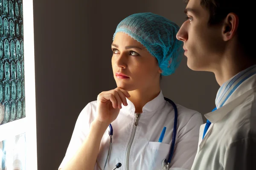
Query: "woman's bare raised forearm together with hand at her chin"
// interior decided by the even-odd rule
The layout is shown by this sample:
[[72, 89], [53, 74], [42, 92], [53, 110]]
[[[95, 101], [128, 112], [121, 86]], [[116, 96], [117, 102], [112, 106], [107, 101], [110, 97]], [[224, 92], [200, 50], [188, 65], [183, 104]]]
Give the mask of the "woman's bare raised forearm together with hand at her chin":
[[99, 146], [108, 125], [119, 114], [122, 104], [127, 106], [127, 91], [116, 88], [104, 91], [97, 97], [96, 119], [90, 124], [90, 130], [83, 144], [63, 170], [93, 170], [98, 156]]

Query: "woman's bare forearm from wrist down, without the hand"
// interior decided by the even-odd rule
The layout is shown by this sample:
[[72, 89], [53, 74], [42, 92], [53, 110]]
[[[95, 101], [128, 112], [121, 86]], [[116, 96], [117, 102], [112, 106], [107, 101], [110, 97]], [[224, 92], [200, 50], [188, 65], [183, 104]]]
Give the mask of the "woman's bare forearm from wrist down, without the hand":
[[93, 170], [99, 153], [99, 146], [105, 130], [108, 128], [103, 122], [93, 121], [90, 132], [76, 155], [62, 170]]

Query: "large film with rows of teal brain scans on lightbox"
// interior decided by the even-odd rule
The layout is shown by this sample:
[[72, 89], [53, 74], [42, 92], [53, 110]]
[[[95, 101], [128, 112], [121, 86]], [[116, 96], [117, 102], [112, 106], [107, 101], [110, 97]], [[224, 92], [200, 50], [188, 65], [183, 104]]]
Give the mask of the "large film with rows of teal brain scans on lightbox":
[[22, 3], [0, 0], [0, 125], [26, 117]]

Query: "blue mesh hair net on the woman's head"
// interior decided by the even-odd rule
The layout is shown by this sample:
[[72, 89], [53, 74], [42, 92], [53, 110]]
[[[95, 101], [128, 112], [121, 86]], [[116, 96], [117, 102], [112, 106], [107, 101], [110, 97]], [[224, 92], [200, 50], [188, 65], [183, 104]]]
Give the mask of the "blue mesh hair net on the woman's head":
[[183, 42], [177, 40], [179, 26], [151, 12], [132, 14], [122, 20], [113, 35], [123, 32], [137, 40], [157, 58], [163, 76], [175, 72], [183, 58]]

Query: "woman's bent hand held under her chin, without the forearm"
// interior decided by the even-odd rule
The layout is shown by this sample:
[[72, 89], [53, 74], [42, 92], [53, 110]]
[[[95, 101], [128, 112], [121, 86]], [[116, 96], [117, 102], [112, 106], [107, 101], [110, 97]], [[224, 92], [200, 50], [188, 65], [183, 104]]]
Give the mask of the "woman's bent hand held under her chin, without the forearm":
[[128, 105], [126, 97], [130, 97], [130, 94], [122, 88], [100, 93], [97, 97], [96, 121], [111, 124], [117, 118], [122, 104]]

